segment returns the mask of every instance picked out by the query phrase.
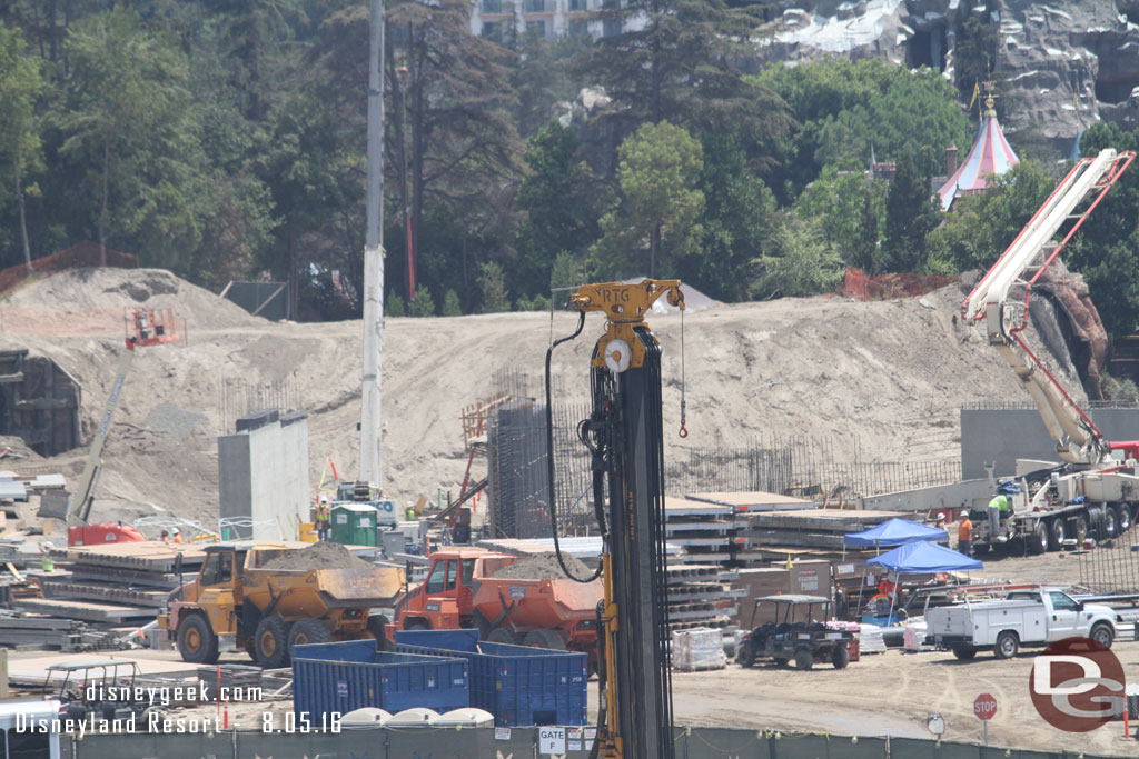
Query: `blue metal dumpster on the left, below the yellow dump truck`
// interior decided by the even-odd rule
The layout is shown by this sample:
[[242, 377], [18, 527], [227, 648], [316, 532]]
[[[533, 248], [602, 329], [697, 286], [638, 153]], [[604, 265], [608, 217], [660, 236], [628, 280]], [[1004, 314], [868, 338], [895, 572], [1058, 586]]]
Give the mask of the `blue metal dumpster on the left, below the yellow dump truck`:
[[330, 712], [363, 707], [450, 711], [470, 706], [468, 673], [460, 657], [384, 653], [375, 641], [298, 645], [293, 650], [293, 711], [312, 725]]

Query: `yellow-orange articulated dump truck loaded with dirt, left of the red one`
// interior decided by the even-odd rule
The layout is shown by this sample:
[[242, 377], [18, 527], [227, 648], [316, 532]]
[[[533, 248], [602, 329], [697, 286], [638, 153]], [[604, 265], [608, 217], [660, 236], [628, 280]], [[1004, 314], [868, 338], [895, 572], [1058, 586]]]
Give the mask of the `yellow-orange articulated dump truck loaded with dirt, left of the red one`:
[[246, 651], [267, 669], [288, 665], [294, 645], [380, 640], [405, 587], [403, 568], [376, 567], [336, 543], [222, 543], [205, 548], [196, 579], [171, 594], [158, 626], [183, 661], [213, 663]]

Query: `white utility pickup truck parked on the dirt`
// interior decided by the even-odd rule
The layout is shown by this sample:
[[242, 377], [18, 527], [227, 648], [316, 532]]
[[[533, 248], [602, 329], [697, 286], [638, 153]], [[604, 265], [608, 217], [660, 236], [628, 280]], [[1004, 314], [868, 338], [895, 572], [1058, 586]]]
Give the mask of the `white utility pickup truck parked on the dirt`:
[[1117, 617], [1109, 607], [1085, 604], [1057, 588], [1013, 591], [995, 601], [966, 601], [926, 611], [926, 641], [972, 659], [981, 649], [998, 659], [1022, 645], [1048, 645], [1066, 637], [1090, 637], [1111, 647]]

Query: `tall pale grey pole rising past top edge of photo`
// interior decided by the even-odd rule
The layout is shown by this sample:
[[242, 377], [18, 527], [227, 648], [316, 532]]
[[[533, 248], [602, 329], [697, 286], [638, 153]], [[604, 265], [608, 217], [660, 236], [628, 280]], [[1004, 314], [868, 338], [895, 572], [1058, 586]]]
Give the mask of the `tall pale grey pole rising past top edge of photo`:
[[382, 488], [379, 369], [384, 327], [384, 0], [371, 0], [368, 55], [368, 193], [363, 246], [360, 479]]

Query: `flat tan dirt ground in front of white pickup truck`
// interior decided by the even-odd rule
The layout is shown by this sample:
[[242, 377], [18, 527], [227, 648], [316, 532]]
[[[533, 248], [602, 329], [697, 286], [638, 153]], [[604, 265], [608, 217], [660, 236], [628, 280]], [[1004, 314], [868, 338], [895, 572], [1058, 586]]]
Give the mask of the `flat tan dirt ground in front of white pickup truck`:
[[[1124, 671], [1137, 671], [1139, 644], [1112, 649]], [[708, 673], [674, 673], [672, 699], [681, 725], [755, 727], [839, 735], [929, 737], [926, 715], [945, 719], [947, 741], [981, 742], [973, 701], [997, 698], [989, 724], [992, 745], [1018, 749], [1088, 751], [1134, 756], [1139, 744], [1124, 743], [1123, 724], [1108, 723], [1092, 733], [1060, 732], [1044, 723], [1029, 696], [1034, 652], [998, 661], [980, 653], [958, 661], [951, 653], [903, 653], [892, 649], [862, 657], [843, 670], [818, 665], [809, 673], [762, 663], [751, 669], [729, 663]], [[597, 684], [590, 683], [590, 718], [596, 717]]]

